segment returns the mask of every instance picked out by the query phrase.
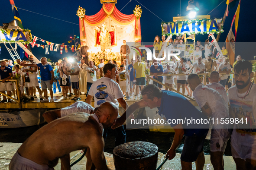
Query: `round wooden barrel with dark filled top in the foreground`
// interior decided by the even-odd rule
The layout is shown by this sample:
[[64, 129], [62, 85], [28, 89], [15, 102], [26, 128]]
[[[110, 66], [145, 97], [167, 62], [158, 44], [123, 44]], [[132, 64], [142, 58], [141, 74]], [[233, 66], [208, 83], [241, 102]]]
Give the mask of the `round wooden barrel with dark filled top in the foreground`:
[[156, 170], [158, 147], [149, 142], [128, 142], [113, 150], [116, 170]]

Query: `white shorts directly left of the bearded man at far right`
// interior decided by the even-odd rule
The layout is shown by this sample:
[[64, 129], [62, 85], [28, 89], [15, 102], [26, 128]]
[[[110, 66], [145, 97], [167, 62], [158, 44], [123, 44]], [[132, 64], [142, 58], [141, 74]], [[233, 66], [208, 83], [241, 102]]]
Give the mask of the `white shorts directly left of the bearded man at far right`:
[[224, 152], [228, 139], [230, 139], [228, 129], [211, 129], [210, 150], [212, 152]]

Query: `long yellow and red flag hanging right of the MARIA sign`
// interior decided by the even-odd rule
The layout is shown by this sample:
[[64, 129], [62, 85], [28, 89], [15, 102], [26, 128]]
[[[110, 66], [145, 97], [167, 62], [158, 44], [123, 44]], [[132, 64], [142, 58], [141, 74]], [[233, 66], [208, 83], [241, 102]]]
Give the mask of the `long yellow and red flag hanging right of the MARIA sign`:
[[226, 49], [229, 55], [230, 64], [233, 65], [235, 62], [235, 44], [237, 39], [237, 27], [238, 27], [238, 19], [239, 19], [239, 13], [240, 13], [240, 2], [237, 6], [237, 11], [233, 17], [231, 28], [229, 30], [229, 33], [227, 35], [226, 39]]

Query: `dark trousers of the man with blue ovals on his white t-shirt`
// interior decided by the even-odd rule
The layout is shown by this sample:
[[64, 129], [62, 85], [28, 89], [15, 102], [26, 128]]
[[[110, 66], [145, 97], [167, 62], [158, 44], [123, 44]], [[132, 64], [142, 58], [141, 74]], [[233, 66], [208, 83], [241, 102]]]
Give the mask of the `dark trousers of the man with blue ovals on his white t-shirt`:
[[112, 129], [111, 127], [110, 128], [105, 128], [104, 132], [103, 132], [104, 141], [106, 141], [106, 139], [107, 139], [107, 132], [109, 130], [113, 133], [113, 135], [116, 138], [116, 140], [115, 140], [115, 145], [116, 146], [126, 143], [126, 133], [124, 131], [123, 125], [116, 128], [116, 129]]

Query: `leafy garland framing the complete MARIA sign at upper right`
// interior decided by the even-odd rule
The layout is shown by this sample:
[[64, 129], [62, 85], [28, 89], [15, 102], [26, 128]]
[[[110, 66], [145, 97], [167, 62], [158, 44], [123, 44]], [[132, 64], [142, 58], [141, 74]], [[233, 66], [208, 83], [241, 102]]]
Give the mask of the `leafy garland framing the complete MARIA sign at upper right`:
[[[170, 25], [170, 24], [172, 24], [172, 23], [175, 23], [175, 24], [186, 24], [186, 23], [188, 23], [188, 24], [191, 24], [191, 23], [193, 23], [193, 22], [204, 22], [204, 21], [209, 21], [209, 22], [211, 22], [211, 21], [213, 21], [213, 20], [217, 20], [217, 18], [215, 18], [215, 19], [206, 19], [206, 18], [204, 18], [204, 19], [193, 19], [193, 20], [186, 20], [186, 21], [176, 21], [176, 22], [162, 22], [162, 24], [161, 24], [161, 27], [163, 26], [163, 24], [167, 24], [167, 25]], [[219, 31], [201, 31], [201, 32], [199, 32], [199, 31], [197, 31], [197, 32], [185, 32], [185, 33], [180, 33], [180, 34], [177, 34], [177, 33], [169, 33], [169, 34], [164, 34], [163, 33], [163, 27], [162, 27], [162, 35], [165, 35], [165, 36], [169, 36], [169, 35], [177, 35], [177, 36], [182, 36], [182, 35], [184, 35], [184, 34], [188, 34], [188, 35], [191, 35], [191, 34], [201, 34], [201, 35], [204, 35], [204, 34], [219, 34], [219, 33], [222, 33], [222, 32], [224, 32], [224, 30], [223, 30], [223, 19], [221, 19], [221, 25], [220, 25], [220, 30]]]

